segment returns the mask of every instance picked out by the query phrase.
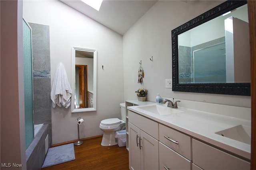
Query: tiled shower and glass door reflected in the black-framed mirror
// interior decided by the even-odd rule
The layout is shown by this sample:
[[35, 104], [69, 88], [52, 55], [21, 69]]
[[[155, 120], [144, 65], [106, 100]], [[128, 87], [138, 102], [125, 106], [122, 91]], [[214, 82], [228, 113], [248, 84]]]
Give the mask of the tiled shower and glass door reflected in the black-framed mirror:
[[179, 46], [179, 83], [225, 83], [226, 47], [223, 41], [224, 37], [194, 47]]

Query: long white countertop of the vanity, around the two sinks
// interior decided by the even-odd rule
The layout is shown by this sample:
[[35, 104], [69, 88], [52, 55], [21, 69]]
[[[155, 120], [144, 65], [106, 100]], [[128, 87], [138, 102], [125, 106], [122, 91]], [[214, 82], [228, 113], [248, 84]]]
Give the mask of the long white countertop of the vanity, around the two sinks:
[[[153, 105], [156, 104], [150, 104], [147, 106]], [[166, 107], [166, 104], [162, 104], [161, 106]], [[250, 145], [215, 134], [218, 131], [228, 129], [236, 125], [246, 125], [251, 127], [251, 121], [248, 119], [187, 109], [184, 107], [178, 108], [179, 111], [183, 111], [181, 113], [159, 115], [140, 109], [140, 107], [142, 106], [129, 106], [127, 108], [154, 121], [186, 133], [194, 138], [205, 141], [206, 143], [210, 143], [216, 147], [220, 147], [224, 150], [228, 150], [229, 152], [250, 159]]]

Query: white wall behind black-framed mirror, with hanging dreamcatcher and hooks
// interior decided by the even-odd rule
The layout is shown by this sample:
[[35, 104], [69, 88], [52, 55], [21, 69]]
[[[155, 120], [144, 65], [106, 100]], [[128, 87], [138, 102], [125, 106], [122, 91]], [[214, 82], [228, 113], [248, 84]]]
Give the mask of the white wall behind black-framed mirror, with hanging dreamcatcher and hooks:
[[[249, 96], [172, 92], [165, 88], [165, 79], [172, 78], [171, 31], [224, 1], [158, 1], [123, 36], [124, 99], [136, 99], [139, 62], [144, 68], [144, 85], [148, 101], [162, 97], [204, 101], [216, 104], [250, 107]], [[153, 56], [153, 61], [150, 57]]]

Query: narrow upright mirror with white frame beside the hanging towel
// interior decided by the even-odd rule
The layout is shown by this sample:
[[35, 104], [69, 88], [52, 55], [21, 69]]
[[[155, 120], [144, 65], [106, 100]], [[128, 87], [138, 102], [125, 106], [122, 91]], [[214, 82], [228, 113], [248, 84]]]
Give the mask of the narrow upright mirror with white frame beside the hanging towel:
[[96, 50], [72, 47], [72, 92], [72, 113], [96, 111]]

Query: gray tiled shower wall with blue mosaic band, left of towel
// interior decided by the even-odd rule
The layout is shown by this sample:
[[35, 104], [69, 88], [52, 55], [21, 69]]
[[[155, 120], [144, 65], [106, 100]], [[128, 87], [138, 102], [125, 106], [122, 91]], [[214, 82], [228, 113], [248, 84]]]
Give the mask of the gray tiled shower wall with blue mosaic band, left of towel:
[[48, 25], [29, 25], [32, 28], [34, 124], [49, 124], [49, 146], [52, 146], [50, 29]]

